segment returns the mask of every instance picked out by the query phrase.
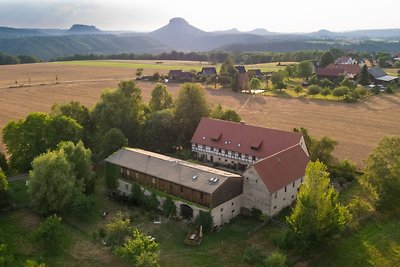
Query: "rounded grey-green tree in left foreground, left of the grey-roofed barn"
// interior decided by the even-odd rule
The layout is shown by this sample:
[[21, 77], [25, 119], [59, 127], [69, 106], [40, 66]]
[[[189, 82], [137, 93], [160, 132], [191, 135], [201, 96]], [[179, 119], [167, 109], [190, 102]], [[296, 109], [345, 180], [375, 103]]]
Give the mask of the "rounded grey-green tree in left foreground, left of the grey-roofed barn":
[[64, 152], [52, 151], [36, 157], [29, 172], [28, 193], [40, 214], [65, 211], [74, 196], [84, 189], [76, 186], [74, 168]]

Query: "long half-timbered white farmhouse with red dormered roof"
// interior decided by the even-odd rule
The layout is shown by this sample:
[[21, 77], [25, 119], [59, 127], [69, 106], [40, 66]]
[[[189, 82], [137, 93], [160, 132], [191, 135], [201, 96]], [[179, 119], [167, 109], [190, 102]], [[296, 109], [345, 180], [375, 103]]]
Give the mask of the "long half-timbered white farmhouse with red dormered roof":
[[191, 143], [197, 158], [238, 170], [297, 144], [308, 155], [301, 133], [210, 118], [200, 120]]

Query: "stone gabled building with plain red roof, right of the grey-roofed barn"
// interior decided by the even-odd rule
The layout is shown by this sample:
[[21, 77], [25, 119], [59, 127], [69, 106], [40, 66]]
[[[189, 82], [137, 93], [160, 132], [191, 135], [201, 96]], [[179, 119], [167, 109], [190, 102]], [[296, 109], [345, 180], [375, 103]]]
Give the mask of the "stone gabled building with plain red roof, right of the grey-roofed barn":
[[309, 162], [300, 144], [257, 161], [243, 173], [242, 209], [274, 216], [296, 199]]

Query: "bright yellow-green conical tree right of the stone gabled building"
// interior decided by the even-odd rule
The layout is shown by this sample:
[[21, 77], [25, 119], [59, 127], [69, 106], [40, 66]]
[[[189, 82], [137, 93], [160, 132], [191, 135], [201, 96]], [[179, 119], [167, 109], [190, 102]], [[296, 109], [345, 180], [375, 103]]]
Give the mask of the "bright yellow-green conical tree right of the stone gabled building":
[[307, 165], [304, 184], [287, 222], [287, 238], [302, 252], [308, 252], [344, 229], [347, 210], [339, 203], [323, 163], [316, 161]]

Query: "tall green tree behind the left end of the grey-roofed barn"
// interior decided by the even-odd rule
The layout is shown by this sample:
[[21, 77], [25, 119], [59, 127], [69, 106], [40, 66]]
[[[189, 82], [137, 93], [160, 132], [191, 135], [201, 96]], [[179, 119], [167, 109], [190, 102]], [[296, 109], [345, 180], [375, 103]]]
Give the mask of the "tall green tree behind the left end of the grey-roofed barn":
[[116, 90], [106, 90], [91, 112], [99, 136], [112, 128], [120, 129], [129, 145], [138, 142], [144, 105], [141, 90], [133, 81], [122, 81]]

